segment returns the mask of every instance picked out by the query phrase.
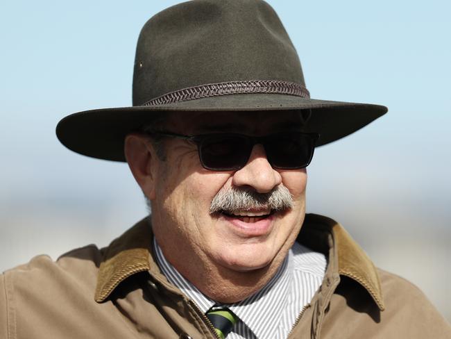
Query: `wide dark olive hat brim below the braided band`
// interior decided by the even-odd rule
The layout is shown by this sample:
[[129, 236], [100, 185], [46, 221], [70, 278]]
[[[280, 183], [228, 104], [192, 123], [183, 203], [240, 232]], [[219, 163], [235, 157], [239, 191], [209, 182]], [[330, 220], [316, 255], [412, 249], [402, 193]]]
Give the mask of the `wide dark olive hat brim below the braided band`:
[[311, 110], [303, 131], [320, 133], [316, 146], [343, 138], [387, 112], [374, 104], [307, 99], [285, 94], [230, 94], [160, 106], [133, 106], [85, 110], [63, 118], [56, 126], [62, 144], [79, 154], [126, 161], [124, 139], [151, 116], [163, 111]]

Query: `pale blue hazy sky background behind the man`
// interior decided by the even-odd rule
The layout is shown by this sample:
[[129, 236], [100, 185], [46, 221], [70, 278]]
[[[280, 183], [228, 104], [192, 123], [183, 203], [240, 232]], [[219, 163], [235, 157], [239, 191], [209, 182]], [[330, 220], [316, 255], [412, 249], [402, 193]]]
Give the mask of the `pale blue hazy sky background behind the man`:
[[[68, 151], [55, 126], [76, 111], [130, 105], [139, 30], [177, 2], [0, 3], [0, 257], [8, 257], [0, 269], [40, 251], [106, 245], [146, 213], [126, 165]], [[365, 129], [317, 149], [307, 210], [346, 224], [384, 267], [393, 265], [384, 254], [397, 253], [399, 239], [405, 251], [419, 243], [434, 260], [449, 256], [438, 249], [451, 240], [450, 2], [269, 3], [312, 97], [389, 107]], [[94, 222], [96, 229], [88, 226]], [[416, 267], [398, 266], [429, 283]], [[449, 265], [444, 274], [450, 278]]]

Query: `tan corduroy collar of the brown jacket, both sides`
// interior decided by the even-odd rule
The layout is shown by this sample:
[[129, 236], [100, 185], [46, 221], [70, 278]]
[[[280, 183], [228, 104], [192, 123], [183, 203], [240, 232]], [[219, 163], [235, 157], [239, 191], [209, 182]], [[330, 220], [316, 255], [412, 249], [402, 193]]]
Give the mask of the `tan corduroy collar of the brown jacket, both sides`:
[[[145, 218], [104, 250], [94, 297], [97, 302], [105, 301], [119, 283], [137, 272], [160, 274], [151, 253], [152, 239], [151, 226]], [[374, 264], [339, 223], [321, 215], [307, 214], [298, 241], [328, 255], [330, 263], [336, 261], [334, 266], [338, 272], [335, 273], [359, 283], [377, 307], [384, 310], [379, 274]]]

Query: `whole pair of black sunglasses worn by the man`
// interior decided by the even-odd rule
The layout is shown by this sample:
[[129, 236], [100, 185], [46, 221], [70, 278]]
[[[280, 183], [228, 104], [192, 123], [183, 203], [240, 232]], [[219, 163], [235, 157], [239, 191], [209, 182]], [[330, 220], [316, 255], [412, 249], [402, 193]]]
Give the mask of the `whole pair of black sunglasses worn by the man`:
[[248, 163], [255, 144], [262, 144], [272, 167], [300, 169], [312, 161], [318, 133], [284, 132], [262, 136], [237, 133], [211, 133], [181, 135], [162, 132], [151, 133], [179, 138], [197, 144], [202, 166], [212, 171], [235, 171]]

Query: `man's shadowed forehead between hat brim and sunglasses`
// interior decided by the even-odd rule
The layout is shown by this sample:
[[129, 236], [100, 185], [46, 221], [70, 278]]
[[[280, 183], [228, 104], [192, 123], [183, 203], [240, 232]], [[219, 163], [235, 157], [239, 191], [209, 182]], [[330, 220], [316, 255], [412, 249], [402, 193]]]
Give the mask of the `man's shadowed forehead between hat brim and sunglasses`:
[[168, 127], [183, 134], [235, 132], [264, 134], [300, 130], [303, 114], [299, 110], [251, 112], [174, 112]]

